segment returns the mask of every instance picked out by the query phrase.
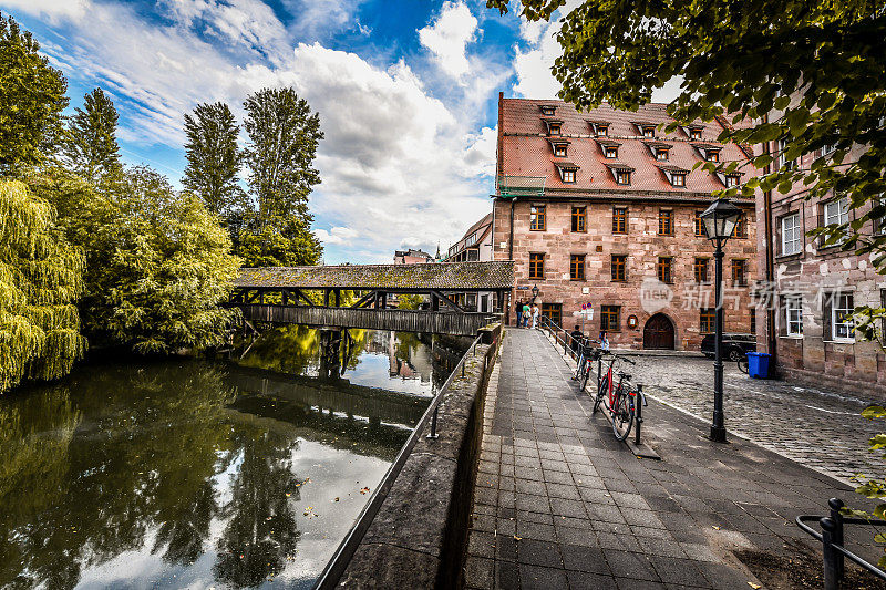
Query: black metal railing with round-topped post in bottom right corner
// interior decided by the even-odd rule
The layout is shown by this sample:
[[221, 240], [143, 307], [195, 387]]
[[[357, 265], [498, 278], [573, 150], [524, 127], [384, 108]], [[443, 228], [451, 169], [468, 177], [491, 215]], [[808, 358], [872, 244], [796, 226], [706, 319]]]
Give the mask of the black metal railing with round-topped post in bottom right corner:
[[[796, 526], [804, 531], [808, 532], [820, 541], [822, 541], [822, 557], [824, 560], [824, 589], [837, 590], [843, 575], [845, 573], [844, 558], [855, 562], [857, 566], [866, 569], [880, 580], [886, 580], [886, 571], [874, 566], [856, 556], [845, 547], [843, 547], [843, 527], [844, 525], [870, 525], [884, 526], [886, 520], [874, 520], [868, 518], [847, 518], [843, 516], [843, 501], [838, 498], [831, 498], [827, 500], [827, 506], [831, 509], [830, 516], [818, 515], [802, 515], [796, 517]], [[807, 526], [808, 521], [817, 521], [822, 527], [822, 532]]]

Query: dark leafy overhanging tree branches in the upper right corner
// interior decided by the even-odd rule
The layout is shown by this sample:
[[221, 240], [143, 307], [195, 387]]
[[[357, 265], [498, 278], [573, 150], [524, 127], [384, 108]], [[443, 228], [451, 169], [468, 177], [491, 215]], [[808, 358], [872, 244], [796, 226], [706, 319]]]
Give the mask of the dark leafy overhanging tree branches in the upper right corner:
[[[523, 13], [546, 20], [564, 3], [525, 0]], [[502, 11], [507, 4], [487, 1]], [[560, 97], [578, 107], [606, 101], [632, 110], [656, 87], [683, 76], [669, 106], [674, 118], [723, 117], [740, 125], [728, 126], [720, 141], [773, 146], [752, 158], [764, 174], [724, 196], [753, 196], [758, 188], [786, 193], [797, 182], [808, 187], [808, 198], [847, 195], [855, 219], [817, 234], [827, 244], [845, 238], [843, 250], [872, 252], [877, 270], [886, 272], [886, 235], [863, 230], [886, 214], [879, 200], [886, 192], [883, 2], [588, 0], [563, 19], [557, 40], [563, 55], [553, 73], [563, 83]], [[769, 167], [781, 155], [792, 161], [804, 154], [815, 155], [806, 169]], [[705, 164], [727, 172], [738, 166]]]

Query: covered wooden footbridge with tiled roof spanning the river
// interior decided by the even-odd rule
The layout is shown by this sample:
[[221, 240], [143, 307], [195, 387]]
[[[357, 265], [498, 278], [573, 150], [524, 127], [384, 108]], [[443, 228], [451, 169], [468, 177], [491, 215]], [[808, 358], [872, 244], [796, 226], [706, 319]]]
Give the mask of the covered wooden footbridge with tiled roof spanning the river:
[[[514, 267], [505, 262], [342, 265], [240, 269], [230, 304], [244, 320], [473, 335], [501, 313], [475, 312], [461, 293], [492, 292], [506, 309]], [[391, 309], [402, 294], [425, 296], [419, 310]]]

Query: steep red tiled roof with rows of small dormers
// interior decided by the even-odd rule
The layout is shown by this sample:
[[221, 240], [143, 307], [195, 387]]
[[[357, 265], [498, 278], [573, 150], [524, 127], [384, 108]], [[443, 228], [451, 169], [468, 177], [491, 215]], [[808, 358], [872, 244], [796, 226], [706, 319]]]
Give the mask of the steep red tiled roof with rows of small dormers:
[[[547, 128], [538, 111], [538, 105], [550, 105], [557, 108], [557, 118], [563, 121], [560, 138], [568, 138], [569, 159], [579, 167], [576, 172], [575, 183], [564, 183], [557, 172], [556, 158], [548, 147], [546, 138]], [[693, 144], [708, 144], [721, 148], [720, 161], [729, 163], [740, 161], [748, 163], [745, 170], [751, 176], [758, 173], [750, 166], [748, 156], [734, 144], [720, 144], [717, 136], [723, 131], [722, 125], [710, 122], [694, 122], [691, 126], [703, 127], [701, 139], [690, 143], [683, 128], [677, 127], [666, 133], [661, 123], [671, 123], [668, 116], [667, 104], [651, 103], [639, 107], [637, 112], [617, 111], [608, 105], [601, 105], [589, 112], [579, 113], [575, 106], [563, 101], [535, 101], [527, 99], [504, 99], [502, 101], [502, 147], [499, 158], [499, 173], [512, 176], [545, 177], [546, 192], [558, 189], [570, 190], [640, 190], [664, 194], [712, 193], [724, 188], [720, 178], [701, 168], [694, 168], [696, 163], [702, 162]], [[588, 123], [606, 122], [609, 126], [608, 137], [594, 137]], [[642, 137], [637, 131], [636, 122], [647, 122], [657, 125], [655, 137]], [[688, 128], [689, 126], [687, 126]], [[611, 144], [610, 144], [611, 142]], [[669, 145], [668, 164], [687, 173], [686, 187], [673, 187], [667, 177], [659, 172], [660, 161], [656, 161], [647, 148], [649, 144]], [[618, 162], [607, 161], [601, 151], [601, 145], [620, 144]], [[662, 145], [663, 147], [663, 145]], [[607, 170], [607, 167], [631, 169], [631, 184], [618, 185]]]

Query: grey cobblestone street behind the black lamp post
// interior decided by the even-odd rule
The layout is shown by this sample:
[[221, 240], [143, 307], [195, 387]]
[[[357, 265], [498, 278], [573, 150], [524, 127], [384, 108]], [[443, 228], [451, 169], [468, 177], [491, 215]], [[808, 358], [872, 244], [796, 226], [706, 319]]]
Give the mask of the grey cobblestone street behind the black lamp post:
[[[635, 383], [663, 402], [710, 423], [713, 415], [713, 362], [703, 358], [631, 356], [626, 365]], [[883, 422], [861, 416], [873, 400], [839, 395], [784, 381], [751, 379], [724, 363], [723, 411], [727, 429], [793, 460], [844, 482], [857, 474], [882, 475], [883, 458], [868, 439], [886, 432]], [[655, 420], [655, 416], [650, 416]]]

